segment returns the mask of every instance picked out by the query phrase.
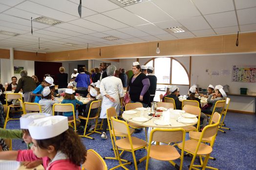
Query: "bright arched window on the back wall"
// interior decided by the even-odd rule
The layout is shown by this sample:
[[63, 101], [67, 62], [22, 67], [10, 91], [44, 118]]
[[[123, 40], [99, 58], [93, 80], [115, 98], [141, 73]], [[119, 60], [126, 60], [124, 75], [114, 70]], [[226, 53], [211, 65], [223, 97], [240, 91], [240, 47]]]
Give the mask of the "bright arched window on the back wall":
[[146, 66], [154, 67], [158, 88], [166, 85], [189, 85], [186, 69], [172, 57], [153, 58]]

